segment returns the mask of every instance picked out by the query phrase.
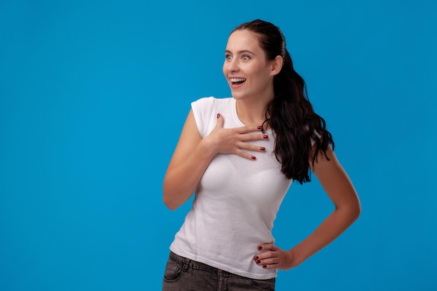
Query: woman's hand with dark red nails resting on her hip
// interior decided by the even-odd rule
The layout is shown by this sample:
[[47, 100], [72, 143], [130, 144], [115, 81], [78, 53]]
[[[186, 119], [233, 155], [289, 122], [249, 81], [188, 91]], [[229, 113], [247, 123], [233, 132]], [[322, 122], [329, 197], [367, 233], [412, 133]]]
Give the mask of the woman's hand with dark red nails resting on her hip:
[[265, 253], [255, 255], [253, 260], [264, 269], [279, 269], [285, 271], [297, 266], [294, 262], [295, 256], [292, 250], [283, 251], [274, 244], [262, 244], [258, 246], [258, 250], [265, 251]]

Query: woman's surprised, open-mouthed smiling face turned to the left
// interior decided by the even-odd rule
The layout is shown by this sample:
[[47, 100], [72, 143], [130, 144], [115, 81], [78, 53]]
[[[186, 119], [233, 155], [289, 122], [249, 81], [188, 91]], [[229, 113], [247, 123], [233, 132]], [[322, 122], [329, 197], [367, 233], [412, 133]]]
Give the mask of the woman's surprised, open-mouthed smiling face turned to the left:
[[272, 99], [275, 75], [272, 72], [272, 62], [267, 61], [256, 33], [249, 30], [231, 33], [225, 50], [223, 74], [232, 97]]

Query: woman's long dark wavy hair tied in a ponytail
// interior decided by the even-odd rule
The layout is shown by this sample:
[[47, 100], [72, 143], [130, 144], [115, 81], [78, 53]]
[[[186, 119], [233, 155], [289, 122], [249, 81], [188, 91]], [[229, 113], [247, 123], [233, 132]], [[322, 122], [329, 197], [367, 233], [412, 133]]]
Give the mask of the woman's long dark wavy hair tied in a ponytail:
[[270, 22], [253, 20], [240, 24], [232, 32], [244, 29], [258, 34], [268, 60], [283, 57], [281, 72], [274, 76], [274, 99], [267, 105], [264, 123], [269, 124], [276, 135], [274, 154], [282, 163], [281, 172], [300, 184], [309, 182], [311, 139], [316, 142], [311, 157], [314, 165], [319, 152], [329, 160], [326, 151], [329, 144], [334, 149], [332, 135], [326, 129], [325, 120], [314, 112], [309, 102], [306, 84], [293, 68], [281, 29]]

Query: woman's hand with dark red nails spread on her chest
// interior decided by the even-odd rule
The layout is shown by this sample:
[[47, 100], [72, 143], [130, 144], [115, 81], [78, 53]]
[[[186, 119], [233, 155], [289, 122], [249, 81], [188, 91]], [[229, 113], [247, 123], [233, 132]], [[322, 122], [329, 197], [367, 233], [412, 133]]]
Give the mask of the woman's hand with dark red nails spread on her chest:
[[265, 151], [264, 147], [249, 143], [249, 141], [255, 140], [268, 140], [267, 134], [253, 133], [261, 131], [261, 126], [223, 128], [224, 122], [223, 116], [218, 113], [216, 126], [203, 140], [209, 147], [214, 148], [217, 154], [236, 154], [249, 160], [255, 160], [255, 156], [246, 151]]

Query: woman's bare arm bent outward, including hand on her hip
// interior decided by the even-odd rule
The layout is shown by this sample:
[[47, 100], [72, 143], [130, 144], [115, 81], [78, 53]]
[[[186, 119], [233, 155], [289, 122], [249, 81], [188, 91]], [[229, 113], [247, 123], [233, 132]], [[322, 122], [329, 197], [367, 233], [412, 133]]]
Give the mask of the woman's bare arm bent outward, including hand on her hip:
[[325, 155], [318, 154], [316, 163], [312, 165], [310, 162], [310, 165], [334, 204], [334, 211], [316, 230], [290, 251], [283, 251], [273, 244], [262, 244], [258, 247], [258, 249], [269, 250], [255, 255], [255, 262], [265, 269], [285, 270], [296, 267], [339, 237], [360, 216], [361, 205], [357, 192], [331, 147], [328, 147], [327, 156], [329, 161]]

